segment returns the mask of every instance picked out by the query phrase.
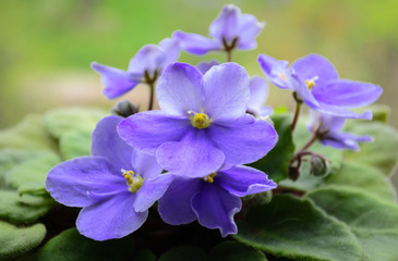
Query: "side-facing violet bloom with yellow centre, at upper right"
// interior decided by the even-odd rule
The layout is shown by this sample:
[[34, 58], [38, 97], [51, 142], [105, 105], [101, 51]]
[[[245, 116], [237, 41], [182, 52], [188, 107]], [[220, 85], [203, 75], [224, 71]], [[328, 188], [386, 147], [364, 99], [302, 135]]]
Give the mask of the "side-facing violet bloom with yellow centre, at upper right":
[[296, 91], [310, 108], [335, 116], [371, 120], [372, 112], [359, 114], [350, 109], [367, 105], [383, 92], [377, 85], [339, 78], [333, 64], [318, 54], [301, 58], [291, 67], [287, 61], [265, 54], [258, 62], [273, 84]]

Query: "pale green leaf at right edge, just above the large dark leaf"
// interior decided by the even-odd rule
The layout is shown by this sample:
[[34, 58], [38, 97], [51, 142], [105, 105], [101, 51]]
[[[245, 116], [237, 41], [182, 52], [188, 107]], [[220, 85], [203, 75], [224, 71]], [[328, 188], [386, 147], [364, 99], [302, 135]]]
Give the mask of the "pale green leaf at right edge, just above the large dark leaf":
[[345, 162], [340, 171], [328, 176], [327, 184], [360, 188], [393, 202], [396, 198], [393, 185], [383, 172], [354, 161]]

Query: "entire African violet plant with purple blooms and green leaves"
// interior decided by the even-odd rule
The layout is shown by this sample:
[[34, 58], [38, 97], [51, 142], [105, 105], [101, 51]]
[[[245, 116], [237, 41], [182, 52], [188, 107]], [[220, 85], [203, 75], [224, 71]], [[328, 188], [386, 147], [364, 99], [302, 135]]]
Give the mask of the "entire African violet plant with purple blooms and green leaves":
[[398, 260], [398, 135], [384, 108], [352, 111], [382, 88], [318, 54], [260, 54], [297, 103], [273, 112], [267, 82], [232, 62], [264, 25], [226, 5], [212, 38], [178, 30], [128, 71], [92, 64], [109, 99], [146, 84], [147, 111], [58, 109], [2, 130], [0, 260]]

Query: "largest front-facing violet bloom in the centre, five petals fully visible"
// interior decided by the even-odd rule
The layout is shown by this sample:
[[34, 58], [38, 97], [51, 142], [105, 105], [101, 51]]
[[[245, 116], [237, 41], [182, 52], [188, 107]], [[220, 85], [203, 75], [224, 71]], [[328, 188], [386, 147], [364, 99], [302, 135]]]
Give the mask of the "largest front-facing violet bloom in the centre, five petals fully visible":
[[254, 162], [277, 141], [270, 124], [245, 113], [249, 76], [236, 63], [213, 66], [204, 75], [192, 65], [171, 64], [158, 80], [157, 96], [160, 111], [134, 114], [118, 132], [173, 174], [202, 177], [224, 162]]

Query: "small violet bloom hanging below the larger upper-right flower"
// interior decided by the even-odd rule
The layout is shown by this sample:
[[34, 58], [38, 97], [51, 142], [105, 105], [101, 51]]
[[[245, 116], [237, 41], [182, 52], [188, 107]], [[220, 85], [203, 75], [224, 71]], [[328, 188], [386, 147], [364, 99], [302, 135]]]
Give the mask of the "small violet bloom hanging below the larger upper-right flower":
[[345, 117], [311, 111], [312, 122], [309, 129], [318, 134], [319, 141], [325, 146], [337, 149], [359, 150], [358, 142], [372, 142], [373, 139], [366, 136], [357, 136], [350, 133], [340, 132], [345, 125]]

